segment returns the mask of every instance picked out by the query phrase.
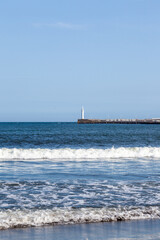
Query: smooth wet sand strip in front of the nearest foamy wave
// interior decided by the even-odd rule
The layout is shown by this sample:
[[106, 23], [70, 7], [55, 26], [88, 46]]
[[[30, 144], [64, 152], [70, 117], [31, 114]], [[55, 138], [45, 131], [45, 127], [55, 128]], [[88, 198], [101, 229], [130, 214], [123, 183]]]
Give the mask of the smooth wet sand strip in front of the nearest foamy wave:
[[0, 231], [1, 240], [160, 239], [160, 220], [90, 223]]

